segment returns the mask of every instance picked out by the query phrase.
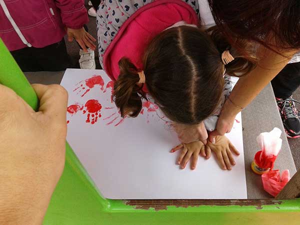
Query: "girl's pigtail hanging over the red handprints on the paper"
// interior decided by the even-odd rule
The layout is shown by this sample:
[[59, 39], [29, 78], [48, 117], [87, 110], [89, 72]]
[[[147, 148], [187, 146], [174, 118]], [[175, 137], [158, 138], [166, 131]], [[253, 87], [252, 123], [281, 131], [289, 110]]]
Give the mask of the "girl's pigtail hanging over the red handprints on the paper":
[[146, 98], [141, 90], [142, 85], [138, 85], [138, 69], [128, 59], [121, 58], [118, 62], [120, 74], [114, 82], [113, 99], [119, 108], [121, 116], [129, 115], [136, 117], [142, 107], [141, 98]]

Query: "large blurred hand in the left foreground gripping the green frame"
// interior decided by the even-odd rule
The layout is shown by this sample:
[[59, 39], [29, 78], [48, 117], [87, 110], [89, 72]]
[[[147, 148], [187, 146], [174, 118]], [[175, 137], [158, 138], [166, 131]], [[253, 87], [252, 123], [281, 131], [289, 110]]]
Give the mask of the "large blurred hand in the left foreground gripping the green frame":
[[67, 92], [32, 86], [38, 112], [0, 85], [0, 224], [41, 224], [64, 167]]

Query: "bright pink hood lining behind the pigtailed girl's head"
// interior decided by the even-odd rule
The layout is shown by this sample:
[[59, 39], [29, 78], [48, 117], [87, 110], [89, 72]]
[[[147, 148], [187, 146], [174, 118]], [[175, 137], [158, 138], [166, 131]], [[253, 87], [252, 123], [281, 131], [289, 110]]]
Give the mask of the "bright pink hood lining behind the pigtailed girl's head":
[[118, 61], [122, 57], [143, 69], [142, 55], [149, 41], [182, 20], [188, 24], [199, 23], [196, 12], [182, 0], [155, 0], [139, 8], [122, 24], [104, 53], [104, 70], [108, 76], [117, 79]]

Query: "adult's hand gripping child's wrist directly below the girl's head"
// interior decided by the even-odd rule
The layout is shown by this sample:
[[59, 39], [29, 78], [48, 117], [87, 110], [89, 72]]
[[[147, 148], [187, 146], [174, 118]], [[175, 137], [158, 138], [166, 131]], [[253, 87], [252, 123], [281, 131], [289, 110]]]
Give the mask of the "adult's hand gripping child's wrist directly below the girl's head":
[[190, 143], [193, 141], [201, 140], [204, 144], [206, 144], [208, 134], [203, 122], [193, 126], [175, 123], [173, 124], [173, 127], [178, 135], [178, 139], [182, 143]]

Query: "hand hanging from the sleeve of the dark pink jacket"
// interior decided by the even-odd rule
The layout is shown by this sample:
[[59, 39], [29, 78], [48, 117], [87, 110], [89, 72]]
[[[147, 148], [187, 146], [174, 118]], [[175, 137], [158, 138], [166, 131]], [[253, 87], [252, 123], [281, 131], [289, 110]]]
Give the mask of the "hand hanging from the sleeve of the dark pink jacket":
[[96, 41], [96, 39], [88, 32], [86, 32], [83, 27], [80, 29], [67, 28], [66, 33], [67, 40], [71, 42], [73, 41], [73, 38], [75, 38], [85, 52], [87, 52], [87, 48], [90, 48], [92, 50], [96, 49], [96, 45], [93, 43]]

